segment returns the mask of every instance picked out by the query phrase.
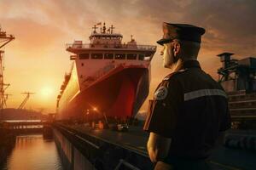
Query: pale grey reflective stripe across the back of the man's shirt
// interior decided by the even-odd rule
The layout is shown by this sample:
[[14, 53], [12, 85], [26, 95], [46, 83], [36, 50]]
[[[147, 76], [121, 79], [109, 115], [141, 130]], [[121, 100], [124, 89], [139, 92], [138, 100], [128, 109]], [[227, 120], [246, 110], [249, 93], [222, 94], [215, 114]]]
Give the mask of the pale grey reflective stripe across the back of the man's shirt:
[[201, 90], [196, 90], [193, 92], [189, 92], [187, 94], [184, 94], [184, 101], [187, 101], [189, 99], [196, 99], [200, 98], [203, 96], [212, 96], [212, 95], [219, 95], [219, 96], [224, 96], [227, 98], [227, 95], [223, 90], [220, 89], [201, 89]]

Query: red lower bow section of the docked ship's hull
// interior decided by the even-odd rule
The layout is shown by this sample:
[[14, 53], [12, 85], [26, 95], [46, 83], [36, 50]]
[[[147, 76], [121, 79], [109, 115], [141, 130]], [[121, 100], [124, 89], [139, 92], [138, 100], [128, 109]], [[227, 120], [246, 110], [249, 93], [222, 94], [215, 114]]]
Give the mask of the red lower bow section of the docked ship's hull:
[[148, 96], [149, 71], [119, 66], [77, 94], [61, 112], [61, 119], [133, 117]]

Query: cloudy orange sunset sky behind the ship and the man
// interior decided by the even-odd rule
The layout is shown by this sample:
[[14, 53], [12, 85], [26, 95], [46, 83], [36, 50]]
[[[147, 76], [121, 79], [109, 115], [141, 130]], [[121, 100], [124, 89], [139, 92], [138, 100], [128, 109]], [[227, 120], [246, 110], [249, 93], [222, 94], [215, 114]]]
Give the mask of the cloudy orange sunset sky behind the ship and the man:
[[[65, 44], [89, 42], [98, 22], [116, 27], [124, 42], [131, 34], [138, 44], [156, 45], [162, 22], [204, 27], [199, 61], [217, 78], [217, 54], [231, 52], [236, 59], [256, 57], [255, 0], [0, 0], [0, 25], [15, 36], [5, 48], [4, 82], [12, 94], [8, 107], [18, 107], [33, 92], [26, 109], [55, 111], [65, 72], [71, 61]], [[162, 68], [160, 49], [152, 60], [151, 93], [169, 70]], [[147, 105], [143, 105], [145, 109]]]

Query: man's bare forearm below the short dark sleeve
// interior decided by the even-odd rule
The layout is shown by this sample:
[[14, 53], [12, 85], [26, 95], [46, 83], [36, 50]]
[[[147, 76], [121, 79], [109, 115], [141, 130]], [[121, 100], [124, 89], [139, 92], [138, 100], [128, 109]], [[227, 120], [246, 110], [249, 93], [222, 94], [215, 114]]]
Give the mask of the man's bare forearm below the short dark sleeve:
[[162, 161], [168, 155], [172, 139], [157, 133], [150, 133], [148, 138], [148, 155], [153, 163]]

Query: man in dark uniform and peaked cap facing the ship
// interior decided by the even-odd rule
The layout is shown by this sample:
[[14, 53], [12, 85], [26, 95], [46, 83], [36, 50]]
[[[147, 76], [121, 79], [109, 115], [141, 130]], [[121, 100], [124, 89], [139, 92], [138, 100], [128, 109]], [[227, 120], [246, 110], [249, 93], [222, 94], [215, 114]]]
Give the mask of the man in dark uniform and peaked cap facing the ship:
[[201, 70], [197, 55], [205, 29], [163, 23], [161, 55], [172, 69], [149, 100], [144, 130], [154, 169], [209, 169], [207, 157], [221, 132], [230, 128], [224, 89]]

